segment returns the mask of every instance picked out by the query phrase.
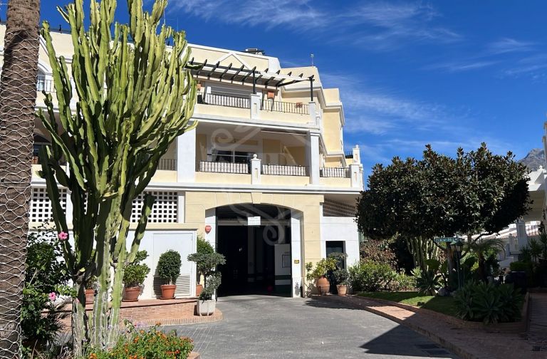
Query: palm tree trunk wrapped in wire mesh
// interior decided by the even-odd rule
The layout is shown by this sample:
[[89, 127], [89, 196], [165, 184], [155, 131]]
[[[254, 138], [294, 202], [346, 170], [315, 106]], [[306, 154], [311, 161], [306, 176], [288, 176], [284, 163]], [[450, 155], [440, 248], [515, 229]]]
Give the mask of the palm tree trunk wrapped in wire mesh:
[[0, 80], [0, 358], [19, 358], [40, 0], [10, 0]]

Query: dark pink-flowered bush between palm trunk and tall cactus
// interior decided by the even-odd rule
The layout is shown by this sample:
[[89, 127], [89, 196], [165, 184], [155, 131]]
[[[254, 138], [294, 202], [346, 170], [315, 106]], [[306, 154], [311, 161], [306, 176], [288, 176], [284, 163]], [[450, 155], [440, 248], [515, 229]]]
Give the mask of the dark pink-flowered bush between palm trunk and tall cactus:
[[[21, 328], [23, 350], [30, 356], [33, 350], [39, 352], [46, 343], [51, 343], [60, 328], [61, 314], [51, 301], [53, 294], [71, 296], [72, 292], [67, 285], [70, 276], [66, 266], [58, 260], [61, 246], [56, 233], [32, 232], [28, 234], [27, 246]], [[48, 310], [46, 316], [42, 316], [43, 310]]]

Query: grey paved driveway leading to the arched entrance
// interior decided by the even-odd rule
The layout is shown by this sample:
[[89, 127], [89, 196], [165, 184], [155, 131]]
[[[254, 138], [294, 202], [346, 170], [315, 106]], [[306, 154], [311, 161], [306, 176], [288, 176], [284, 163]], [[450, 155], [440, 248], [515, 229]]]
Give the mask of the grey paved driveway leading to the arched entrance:
[[457, 358], [405, 326], [333, 303], [231, 297], [217, 303], [224, 321], [176, 326], [213, 358]]

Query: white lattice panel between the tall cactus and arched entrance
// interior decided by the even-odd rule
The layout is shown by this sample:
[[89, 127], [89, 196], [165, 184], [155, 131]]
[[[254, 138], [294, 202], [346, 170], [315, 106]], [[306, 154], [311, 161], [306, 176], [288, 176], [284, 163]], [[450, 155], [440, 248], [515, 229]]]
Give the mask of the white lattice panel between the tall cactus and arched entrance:
[[156, 197], [152, 213], [148, 217], [148, 223], [176, 223], [178, 210], [178, 192], [170, 191], [146, 191], [139, 194], [133, 201], [131, 209], [131, 222], [139, 222], [140, 211], [145, 200], [146, 194], [152, 194]]

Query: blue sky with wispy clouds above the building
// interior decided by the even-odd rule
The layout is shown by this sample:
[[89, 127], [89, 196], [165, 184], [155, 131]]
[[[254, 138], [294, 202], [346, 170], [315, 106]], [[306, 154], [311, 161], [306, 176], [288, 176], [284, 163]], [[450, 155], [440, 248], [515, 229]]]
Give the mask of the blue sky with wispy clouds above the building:
[[[63, 24], [53, 4], [67, 2], [42, 1], [53, 28]], [[395, 155], [420, 157], [427, 143], [454, 154], [484, 141], [517, 158], [541, 147], [545, 1], [171, 0], [167, 9], [192, 43], [264, 48], [282, 66], [308, 66], [313, 53], [323, 83], [340, 88], [346, 150], [360, 145], [366, 173]]]

